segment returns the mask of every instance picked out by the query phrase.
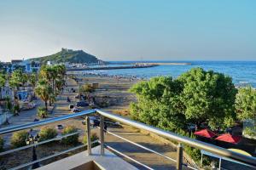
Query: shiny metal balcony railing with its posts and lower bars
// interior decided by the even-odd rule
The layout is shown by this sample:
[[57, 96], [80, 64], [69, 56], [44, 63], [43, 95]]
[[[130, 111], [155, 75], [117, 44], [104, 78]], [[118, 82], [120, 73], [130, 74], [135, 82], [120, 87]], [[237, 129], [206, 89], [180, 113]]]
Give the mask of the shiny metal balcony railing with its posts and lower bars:
[[[153, 153], [155, 153], [159, 156], [165, 157], [166, 159], [169, 159], [171, 161], [175, 161], [177, 169], [182, 169], [183, 166], [190, 167], [192, 169], [196, 169], [195, 167], [191, 167], [191, 166], [183, 163], [183, 144], [187, 144], [189, 146], [195, 147], [195, 148], [200, 149], [200, 150], [206, 150], [206, 151], [211, 152], [213, 154], [216, 154], [218, 156], [227, 157], [227, 158], [230, 158], [234, 161], [239, 161], [241, 163], [247, 164], [247, 166], [249, 166], [249, 167], [255, 167], [256, 168], [256, 158], [255, 157], [244, 156], [244, 155], [241, 155], [241, 154], [236, 153], [234, 151], [226, 150], [224, 148], [218, 147], [218, 146], [213, 145], [213, 144], [207, 144], [205, 142], [201, 142], [201, 141], [196, 140], [196, 139], [190, 139], [190, 138], [187, 138], [187, 137], [183, 137], [181, 135], [178, 135], [177, 133], [172, 133], [172, 132], [168, 132], [168, 131], [162, 130], [160, 128], [157, 128], [157, 127], [148, 126], [144, 123], [136, 122], [136, 121], [133, 121], [131, 119], [125, 118], [123, 116], [114, 115], [114, 114], [109, 113], [107, 111], [101, 111], [101, 110], [81, 111], [79, 113], [74, 113], [72, 115], [49, 118], [49, 119], [46, 119], [44, 121], [31, 122], [31, 123], [27, 123], [27, 124], [23, 124], [23, 125], [17, 125], [17, 126], [13, 126], [13, 127], [6, 127], [6, 128], [0, 129], [0, 135], [5, 134], [5, 133], [13, 133], [15, 131], [24, 130], [24, 129], [27, 129], [27, 128], [38, 127], [38, 126], [46, 125], [46, 124], [49, 124], [49, 123], [52, 123], [52, 122], [61, 122], [61, 121], [64, 121], [64, 120], [67, 120], [67, 119], [70, 119], [70, 118], [74, 118], [74, 117], [78, 117], [78, 116], [87, 116], [86, 117], [86, 122], [87, 122], [86, 123], [87, 124], [87, 127], [86, 127], [87, 144], [85, 144], [85, 145], [87, 145], [88, 154], [90, 155], [91, 154], [91, 144], [93, 144], [94, 142], [91, 143], [91, 141], [90, 141], [90, 117], [89, 117], [89, 115], [94, 114], [94, 113], [98, 113], [101, 116], [100, 142], [99, 143], [101, 144], [101, 155], [102, 156], [104, 156], [104, 148], [108, 148], [109, 150], [113, 150], [116, 153], [118, 153], [119, 155], [130, 159], [131, 161], [137, 162], [138, 164], [140, 164], [143, 167], [146, 167], [148, 169], [152, 169], [151, 167], [148, 167], [147, 165], [144, 165], [143, 163], [141, 163], [139, 161], [136, 161], [135, 159], [131, 158], [130, 156], [125, 156], [123, 153], [119, 152], [118, 150], [113, 149], [112, 147], [110, 147], [110, 146], [108, 146], [107, 144], [104, 143], [104, 117], [107, 117], [108, 119], [114, 120], [116, 122], [122, 122], [124, 124], [130, 125], [131, 127], [137, 127], [139, 129], [146, 130], [150, 133], [156, 133], [156, 134], [158, 134], [162, 137], [165, 137], [166, 139], [171, 139], [172, 141], [177, 142], [177, 144], [178, 144], [177, 145], [177, 160], [173, 160], [172, 158], [170, 158], [168, 156], [165, 156], [163, 154], [160, 154], [159, 152], [156, 152], [154, 150], [150, 150], [150, 149], [146, 148], [145, 146], [143, 146], [141, 144], [136, 144], [136, 143], [132, 142], [131, 140], [124, 139], [123, 137], [120, 137], [117, 134], [114, 134], [114, 133], [111, 133], [111, 132], [107, 131], [107, 133], [112, 134], [112, 135], [118, 137], [119, 139], [124, 139], [125, 141], [127, 141], [131, 144], [135, 144], [138, 147], [143, 148], [144, 150], [151, 151], [151, 152], [153, 152]], [[66, 153], [67, 151], [64, 151], [64, 152]], [[9, 153], [9, 151], [6, 151], [6, 152]], [[5, 153], [5, 154], [7, 154], [7, 153]], [[3, 153], [0, 153], [0, 156], [3, 156]], [[46, 158], [43, 158], [43, 159], [45, 160]], [[34, 163], [34, 162], [27, 163], [26, 166], [27, 165], [32, 165], [32, 163]], [[24, 166], [21, 165], [19, 167], [24, 167]], [[18, 168], [15, 167], [15, 169], [18, 169]]]

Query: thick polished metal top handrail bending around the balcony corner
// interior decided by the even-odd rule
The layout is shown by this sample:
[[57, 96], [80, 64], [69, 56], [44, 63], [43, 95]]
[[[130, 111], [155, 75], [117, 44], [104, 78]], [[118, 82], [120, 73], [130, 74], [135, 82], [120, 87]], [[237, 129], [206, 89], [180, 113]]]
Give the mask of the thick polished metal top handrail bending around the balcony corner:
[[201, 150], [207, 150], [209, 152], [212, 152], [214, 154], [217, 154], [219, 156], [224, 156], [224, 157], [228, 157], [230, 159], [236, 160], [236, 161], [241, 161], [243, 163], [248, 164], [248, 166], [251, 167], [256, 167], [256, 158], [252, 157], [252, 156], [244, 156], [241, 155], [239, 153], [236, 153], [234, 151], [231, 150], [226, 150], [224, 148], [218, 147], [216, 145], [213, 144], [207, 144], [205, 142], [201, 142], [199, 140], [196, 139], [190, 139], [188, 137], [184, 137], [181, 135], [178, 135], [177, 133], [172, 133], [172, 132], [167, 132], [165, 130], [162, 130], [158, 127], [152, 127], [152, 126], [148, 126], [142, 122], [136, 122], [133, 121], [131, 119], [125, 118], [123, 116], [118, 116], [118, 115], [114, 115], [112, 113], [109, 113], [107, 111], [101, 111], [101, 110], [89, 110], [89, 111], [81, 111], [79, 113], [74, 113], [72, 115], [67, 115], [67, 116], [59, 116], [59, 117], [55, 117], [55, 118], [50, 118], [50, 119], [46, 119], [44, 121], [39, 121], [39, 122], [31, 122], [31, 123], [27, 123], [24, 125], [18, 125], [18, 126], [14, 126], [14, 127], [6, 127], [6, 128], [2, 128], [0, 129], [0, 134], [4, 134], [4, 133], [12, 133], [18, 130], [23, 130], [26, 128], [31, 128], [31, 127], [38, 127], [38, 126], [42, 126], [51, 122], [60, 122], [63, 120], [67, 120], [69, 118], [74, 118], [77, 116], [86, 116], [86, 115], [90, 115], [93, 113], [99, 113], [100, 115], [104, 116], [104, 117], [108, 117], [109, 119], [113, 119], [117, 122], [123, 122], [125, 124], [131, 125], [132, 127], [137, 127], [137, 128], [141, 128], [144, 129], [146, 131], [149, 131], [151, 133], [156, 133], [159, 134], [160, 136], [166, 137], [167, 139], [171, 139], [173, 141], [176, 141], [178, 143], [182, 143], [182, 144], [188, 144], [189, 146], [201, 149]]

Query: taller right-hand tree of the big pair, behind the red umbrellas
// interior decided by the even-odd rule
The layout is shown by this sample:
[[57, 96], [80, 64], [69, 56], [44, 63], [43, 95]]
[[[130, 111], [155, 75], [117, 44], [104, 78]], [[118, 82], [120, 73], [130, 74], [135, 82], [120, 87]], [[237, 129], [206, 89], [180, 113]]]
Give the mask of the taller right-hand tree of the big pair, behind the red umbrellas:
[[236, 118], [234, 104], [237, 90], [231, 77], [194, 68], [177, 78], [183, 91], [181, 101], [189, 122], [207, 122], [213, 129], [229, 127]]

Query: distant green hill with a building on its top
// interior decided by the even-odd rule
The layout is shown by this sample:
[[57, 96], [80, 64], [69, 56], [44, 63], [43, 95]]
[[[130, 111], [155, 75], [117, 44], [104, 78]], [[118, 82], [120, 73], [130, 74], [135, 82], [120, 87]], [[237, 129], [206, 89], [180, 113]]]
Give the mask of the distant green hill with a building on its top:
[[39, 61], [41, 63], [46, 63], [51, 61], [54, 63], [99, 63], [102, 62], [101, 59], [97, 59], [96, 56], [87, 54], [83, 50], [72, 50], [67, 48], [61, 48], [61, 51], [56, 54], [51, 54], [44, 57], [38, 57], [30, 59], [33, 61]]

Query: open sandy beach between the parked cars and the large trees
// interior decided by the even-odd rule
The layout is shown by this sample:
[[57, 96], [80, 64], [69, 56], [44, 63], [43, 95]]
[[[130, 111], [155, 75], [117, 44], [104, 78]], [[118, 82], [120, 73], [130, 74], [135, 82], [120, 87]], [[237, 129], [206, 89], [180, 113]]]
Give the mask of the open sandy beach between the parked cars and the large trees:
[[132, 101], [136, 101], [134, 94], [129, 92], [129, 88], [139, 81], [135, 78], [108, 77], [96, 75], [77, 74], [79, 86], [83, 84], [98, 83], [98, 88], [91, 95], [96, 101], [105, 102], [106, 106], [101, 107], [105, 111], [127, 112]]

